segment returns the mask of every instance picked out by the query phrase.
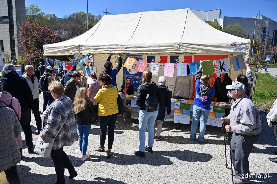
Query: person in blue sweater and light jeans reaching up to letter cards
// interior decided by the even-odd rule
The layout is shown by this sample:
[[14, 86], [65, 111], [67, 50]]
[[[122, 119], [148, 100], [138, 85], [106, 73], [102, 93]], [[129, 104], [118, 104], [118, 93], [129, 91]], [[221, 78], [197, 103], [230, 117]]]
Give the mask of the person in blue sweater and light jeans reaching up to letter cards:
[[193, 115], [191, 123], [191, 140], [196, 139], [196, 131], [200, 119], [198, 141], [203, 143], [206, 130], [206, 123], [210, 113], [211, 97], [215, 95], [215, 88], [209, 85], [209, 77], [202, 75], [203, 61], [195, 76], [195, 98], [193, 105]]

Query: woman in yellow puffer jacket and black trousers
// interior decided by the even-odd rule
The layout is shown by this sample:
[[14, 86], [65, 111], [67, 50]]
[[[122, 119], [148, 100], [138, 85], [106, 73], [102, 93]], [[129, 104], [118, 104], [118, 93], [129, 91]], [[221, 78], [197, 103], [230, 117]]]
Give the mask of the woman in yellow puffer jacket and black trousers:
[[105, 150], [106, 132], [108, 128], [108, 150], [107, 155], [110, 158], [110, 150], [114, 143], [114, 128], [117, 120], [118, 106], [117, 97], [118, 90], [112, 84], [112, 79], [108, 74], [100, 74], [98, 80], [102, 88], [100, 88], [94, 97], [94, 101], [99, 103], [98, 118], [100, 121], [100, 145], [95, 151]]

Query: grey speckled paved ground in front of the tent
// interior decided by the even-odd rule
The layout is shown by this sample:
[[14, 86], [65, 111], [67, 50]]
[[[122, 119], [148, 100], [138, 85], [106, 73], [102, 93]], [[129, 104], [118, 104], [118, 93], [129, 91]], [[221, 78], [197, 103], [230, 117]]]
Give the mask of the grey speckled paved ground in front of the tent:
[[[40, 110], [42, 111], [42, 95], [40, 95]], [[91, 127], [88, 153], [90, 158], [81, 161], [80, 155], [75, 154], [78, 142], [70, 147], [64, 147], [69, 155], [78, 176], [72, 180], [68, 179], [69, 173], [65, 171], [66, 183], [231, 183], [230, 169], [225, 167], [225, 151], [223, 142], [223, 130], [219, 127], [207, 125], [205, 142], [191, 141], [190, 125], [181, 125], [176, 129], [174, 124], [165, 122], [163, 124], [163, 139], [155, 141], [151, 154], [146, 152], [145, 158], [135, 156], [133, 151], [139, 149], [139, 128], [132, 124], [130, 112], [124, 119], [118, 117], [118, 129], [115, 130], [115, 139], [110, 159], [105, 152], [96, 152], [94, 148], [99, 144], [99, 123]], [[251, 174], [262, 174], [252, 179], [251, 183], [277, 183], [277, 163], [268, 160], [275, 157], [277, 150], [273, 127], [266, 122], [266, 114], [260, 114], [262, 120], [262, 133], [259, 141], [254, 145], [249, 157]], [[32, 130], [34, 144], [38, 138], [37, 128], [32, 114]], [[179, 126], [178, 126], [179, 128]], [[18, 175], [22, 184], [39, 183], [48, 184], [56, 182], [54, 164], [51, 158], [43, 159], [38, 154], [28, 154], [25, 144], [24, 133], [23, 160], [18, 163]], [[107, 140], [105, 146], [107, 147]], [[227, 163], [230, 167], [229, 146], [227, 145]]]

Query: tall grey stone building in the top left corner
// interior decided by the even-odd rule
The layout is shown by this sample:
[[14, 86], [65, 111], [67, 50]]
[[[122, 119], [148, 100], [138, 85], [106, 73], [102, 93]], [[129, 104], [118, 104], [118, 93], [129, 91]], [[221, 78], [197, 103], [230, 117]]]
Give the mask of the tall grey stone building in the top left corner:
[[0, 0], [0, 49], [11, 52], [13, 60], [20, 56], [17, 34], [21, 21], [26, 21], [25, 0]]

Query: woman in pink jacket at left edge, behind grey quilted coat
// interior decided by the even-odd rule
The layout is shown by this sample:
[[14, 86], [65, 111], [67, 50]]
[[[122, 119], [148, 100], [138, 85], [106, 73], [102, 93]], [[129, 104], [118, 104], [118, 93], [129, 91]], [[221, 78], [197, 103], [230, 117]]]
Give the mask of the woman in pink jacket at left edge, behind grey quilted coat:
[[[0, 91], [3, 90], [3, 87], [0, 84]], [[10, 93], [6, 92], [6, 91], [2, 91], [2, 95], [0, 97], [0, 101], [4, 102], [6, 104], [6, 106], [8, 105], [12, 105], [14, 107], [14, 110], [16, 111], [16, 113], [18, 114], [18, 117], [21, 117], [21, 107], [20, 107], [20, 103], [18, 101], [18, 99], [12, 97], [10, 95]], [[20, 150], [20, 155], [21, 155], [21, 159], [22, 159], [22, 139], [21, 139], [21, 135], [18, 136], [16, 138], [17, 140], [17, 144], [18, 144], [18, 148]]]

